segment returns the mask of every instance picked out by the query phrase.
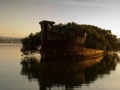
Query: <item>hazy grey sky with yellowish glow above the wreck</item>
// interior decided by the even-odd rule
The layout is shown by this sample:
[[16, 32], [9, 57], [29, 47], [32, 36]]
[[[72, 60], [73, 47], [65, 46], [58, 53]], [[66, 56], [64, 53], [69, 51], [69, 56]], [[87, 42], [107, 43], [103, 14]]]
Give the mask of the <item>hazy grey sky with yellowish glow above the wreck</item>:
[[94, 25], [120, 38], [120, 0], [0, 0], [0, 36], [26, 37], [42, 20]]

